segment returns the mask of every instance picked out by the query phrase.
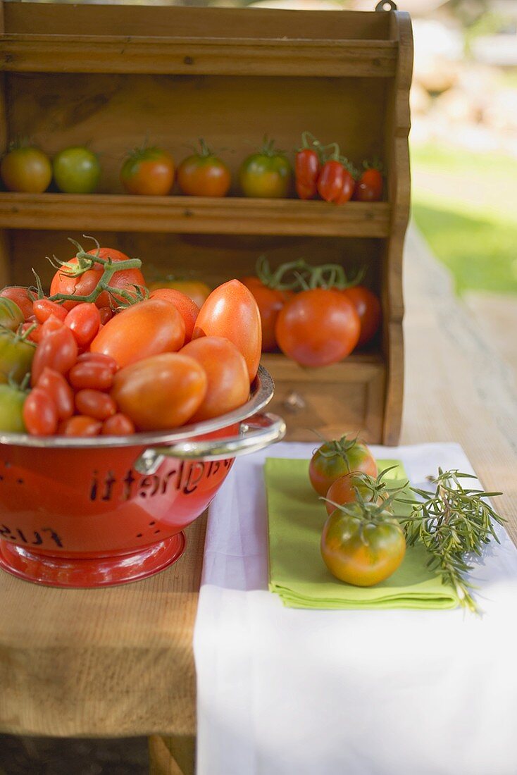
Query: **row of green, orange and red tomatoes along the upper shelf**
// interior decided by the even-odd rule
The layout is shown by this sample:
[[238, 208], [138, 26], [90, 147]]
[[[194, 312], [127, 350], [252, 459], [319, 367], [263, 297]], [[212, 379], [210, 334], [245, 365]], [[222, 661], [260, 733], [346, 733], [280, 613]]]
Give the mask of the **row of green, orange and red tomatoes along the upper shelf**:
[[[327, 202], [338, 204], [352, 197], [361, 202], [377, 202], [381, 198], [380, 167], [359, 176], [352, 165], [339, 157], [339, 149], [333, 151], [331, 158], [330, 146], [322, 146], [314, 138], [308, 146], [309, 136], [312, 137], [303, 134], [304, 146], [295, 156], [295, 188], [300, 198], [312, 199], [319, 194]], [[102, 168], [98, 156], [85, 146], [65, 148], [51, 161], [40, 148], [19, 145], [3, 157], [0, 174], [9, 191], [42, 193], [53, 179], [58, 191], [91, 194], [98, 188]], [[243, 160], [238, 177], [240, 192], [246, 197], [291, 195], [291, 163], [286, 153], [275, 149], [274, 142], [267, 138], [257, 153]], [[226, 162], [200, 140], [199, 149], [181, 161], [178, 169], [167, 150], [146, 145], [136, 148], [123, 161], [120, 181], [125, 191], [135, 195], [165, 196], [177, 182], [184, 195], [222, 197], [229, 192], [232, 174]]]

